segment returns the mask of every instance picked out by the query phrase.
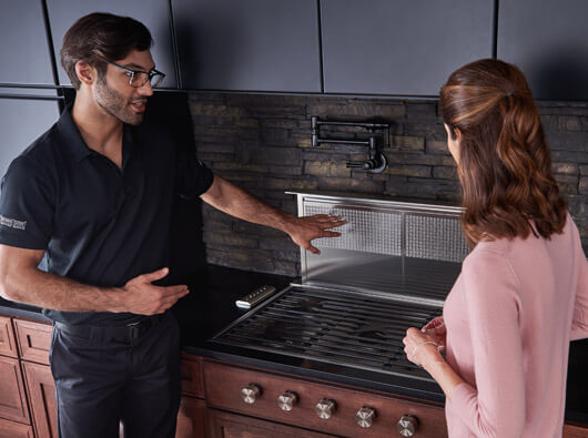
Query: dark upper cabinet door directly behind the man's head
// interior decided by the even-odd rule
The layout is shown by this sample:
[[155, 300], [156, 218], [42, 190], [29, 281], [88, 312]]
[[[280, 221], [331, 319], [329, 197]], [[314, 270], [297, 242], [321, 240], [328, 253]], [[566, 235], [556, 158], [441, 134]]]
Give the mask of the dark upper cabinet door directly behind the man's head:
[[[55, 59], [59, 64], [59, 51], [63, 35], [78, 20], [91, 12], [110, 12], [132, 17], [148, 27], [153, 37], [151, 53], [156, 69], [165, 73], [161, 84], [164, 89], [178, 88], [173, 61], [173, 39], [170, 23], [170, 4], [163, 0], [47, 0], [49, 21], [53, 37]], [[62, 85], [71, 84], [65, 71], [60, 67], [59, 81]]]

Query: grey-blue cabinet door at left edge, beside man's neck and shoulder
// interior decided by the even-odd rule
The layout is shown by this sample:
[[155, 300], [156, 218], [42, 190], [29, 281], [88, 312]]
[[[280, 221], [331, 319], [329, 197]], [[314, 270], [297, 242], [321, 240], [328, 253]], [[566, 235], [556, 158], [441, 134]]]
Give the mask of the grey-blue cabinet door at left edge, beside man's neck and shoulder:
[[0, 99], [0, 177], [10, 162], [58, 118], [57, 100]]

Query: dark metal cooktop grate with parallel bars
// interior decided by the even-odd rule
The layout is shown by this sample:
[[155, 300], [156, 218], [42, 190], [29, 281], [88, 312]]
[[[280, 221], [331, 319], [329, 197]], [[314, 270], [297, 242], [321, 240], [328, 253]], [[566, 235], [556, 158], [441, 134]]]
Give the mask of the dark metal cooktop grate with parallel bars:
[[406, 359], [402, 339], [440, 313], [399, 298], [293, 286], [213, 340], [433, 381]]

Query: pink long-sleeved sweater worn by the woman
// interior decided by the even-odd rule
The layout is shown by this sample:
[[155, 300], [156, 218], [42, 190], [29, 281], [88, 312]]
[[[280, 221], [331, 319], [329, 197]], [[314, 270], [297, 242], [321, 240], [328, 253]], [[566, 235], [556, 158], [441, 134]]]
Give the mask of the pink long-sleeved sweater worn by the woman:
[[588, 263], [568, 215], [550, 241], [479, 243], [443, 310], [447, 361], [466, 381], [449, 437], [561, 437], [570, 339], [588, 337]]

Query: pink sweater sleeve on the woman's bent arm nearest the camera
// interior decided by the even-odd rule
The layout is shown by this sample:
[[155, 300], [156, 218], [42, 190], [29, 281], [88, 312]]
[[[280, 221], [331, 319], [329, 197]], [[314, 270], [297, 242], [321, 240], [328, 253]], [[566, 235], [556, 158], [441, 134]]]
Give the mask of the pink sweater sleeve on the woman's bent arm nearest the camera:
[[520, 437], [525, 371], [518, 279], [503, 254], [485, 249], [464, 262], [462, 274], [476, 388], [459, 384], [452, 404], [477, 437]]

